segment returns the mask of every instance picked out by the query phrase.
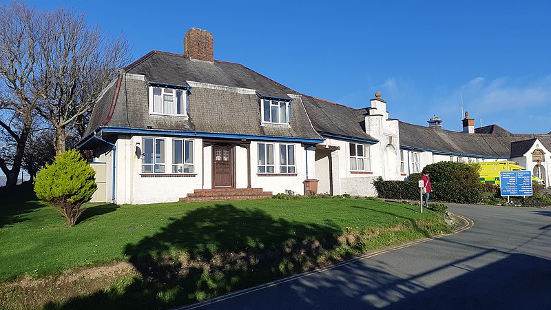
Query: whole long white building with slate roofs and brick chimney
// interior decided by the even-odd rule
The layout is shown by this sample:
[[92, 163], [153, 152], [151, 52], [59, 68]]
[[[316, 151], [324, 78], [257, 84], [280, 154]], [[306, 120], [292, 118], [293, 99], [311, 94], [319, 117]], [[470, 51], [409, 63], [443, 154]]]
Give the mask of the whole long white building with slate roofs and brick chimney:
[[212, 34], [192, 28], [184, 54], [152, 51], [119, 72], [79, 147], [94, 150], [94, 200], [119, 204], [373, 196], [378, 176], [403, 180], [437, 161], [511, 159], [549, 180], [549, 134], [475, 129], [468, 114], [451, 132], [436, 116], [428, 127], [389, 118], [386, 105], [377, 92], [353, 109], [216, 61]]

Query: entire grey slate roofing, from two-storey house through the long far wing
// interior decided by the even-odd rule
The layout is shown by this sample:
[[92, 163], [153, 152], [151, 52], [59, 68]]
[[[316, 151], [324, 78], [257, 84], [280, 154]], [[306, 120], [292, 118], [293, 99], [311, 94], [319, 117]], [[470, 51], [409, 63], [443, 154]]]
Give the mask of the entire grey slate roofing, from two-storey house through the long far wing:
[[[132, 75], [119, 75], [121, 87], [118, 87], [118, 96], [118, 79], [115, 79], [96, 102], [85, 136], [105, 125], [313, 139], [321, 139], [319, 134], [332, 134], [377, 142], [364, 131], [366, 109], [353, 109], [300, 94], [236, 63], [192, 61], [181, 54], [152, 51], [125, 71]], [[133, 74], [145, 76], [146, 81], [136, 79]], [[189, 85], [187, 81], [256, 90], [257, 94], [267, 96], [289, 98], [291, 95], [291, 126], [261, 125], [257, 94], [223, 87], [192, 87], [188, 96], [187, 120], [149, 114], [147, 82]], [[475, 134], [466, 134], [442, 130], [439, 126], [399, 122], [399, 138], [401, 147], [464, 156], [519, 156], [526, 153], [528, 141], [535, 138], [551, 149], [551, 134], [512, 134], [498, 125], [476, 128]]]

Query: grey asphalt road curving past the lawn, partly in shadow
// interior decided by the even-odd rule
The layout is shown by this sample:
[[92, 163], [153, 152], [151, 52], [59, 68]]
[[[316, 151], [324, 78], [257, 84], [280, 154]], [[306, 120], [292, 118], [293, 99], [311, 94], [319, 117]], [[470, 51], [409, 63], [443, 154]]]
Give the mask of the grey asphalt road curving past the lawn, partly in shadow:
[[551, 209], [450, 211], [468, 229], [178, 309], [551, 309]]

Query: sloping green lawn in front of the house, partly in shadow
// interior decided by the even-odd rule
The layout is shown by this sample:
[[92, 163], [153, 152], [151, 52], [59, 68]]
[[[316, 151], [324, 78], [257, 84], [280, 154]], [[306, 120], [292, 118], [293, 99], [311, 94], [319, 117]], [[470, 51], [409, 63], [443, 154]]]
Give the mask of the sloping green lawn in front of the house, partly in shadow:
[[0, 281], [128, 261], [138, 276], [49, 307], [165, 308], [441, 232], [449, 229], [430, 210], [367, 199], [90, 204], [75, 227], [54, 207], [8, 200]]

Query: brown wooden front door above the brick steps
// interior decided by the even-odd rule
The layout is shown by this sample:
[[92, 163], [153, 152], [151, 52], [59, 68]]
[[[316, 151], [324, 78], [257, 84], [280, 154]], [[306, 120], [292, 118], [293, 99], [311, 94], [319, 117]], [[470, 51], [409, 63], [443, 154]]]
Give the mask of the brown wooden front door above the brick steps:
[[213, 187], [235, 187], [235, 162], [233, 145], [212, 146], [212, 185]]

